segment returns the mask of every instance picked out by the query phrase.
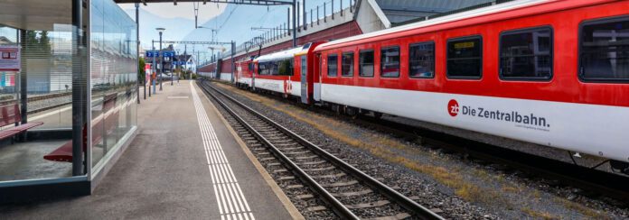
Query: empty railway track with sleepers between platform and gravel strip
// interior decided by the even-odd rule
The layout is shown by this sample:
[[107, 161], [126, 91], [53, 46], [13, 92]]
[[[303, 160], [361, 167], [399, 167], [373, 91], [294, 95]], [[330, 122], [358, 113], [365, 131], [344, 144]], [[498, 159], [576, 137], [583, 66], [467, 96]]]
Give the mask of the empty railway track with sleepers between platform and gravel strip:
[[230, 114], [230, 123], [236, 124], [235, 130], [248, 142], [258, 160], [266, 161], [270, 171], [279, 174], [277, 180], [299, 179], [316, 196], [307, 193], [300, 184], [288, 185], [285, 190], [300, 191], [302, 194], [297, 198], [317, 197], [326, 204], [310, 206], [305, 211], [330, 209], [343, 219], [443, 219], [208, 83], [199, 85]]

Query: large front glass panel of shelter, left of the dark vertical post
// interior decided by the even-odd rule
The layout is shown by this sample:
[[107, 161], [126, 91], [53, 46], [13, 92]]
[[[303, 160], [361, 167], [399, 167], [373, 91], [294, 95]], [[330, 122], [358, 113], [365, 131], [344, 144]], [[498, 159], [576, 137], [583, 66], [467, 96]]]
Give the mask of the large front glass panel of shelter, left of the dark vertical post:
[[87, 58], [73, 50], [66, 3], [1, 4], [0, 14], [14, 19], [0, 20], [0, 181], [72, 176], [73, 67], [88, 73], [80, 71]]

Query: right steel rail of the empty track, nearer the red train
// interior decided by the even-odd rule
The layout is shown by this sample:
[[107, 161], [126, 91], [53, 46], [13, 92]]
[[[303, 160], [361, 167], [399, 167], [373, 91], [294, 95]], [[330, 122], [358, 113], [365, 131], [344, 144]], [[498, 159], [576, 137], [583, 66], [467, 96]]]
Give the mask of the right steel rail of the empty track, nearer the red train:
[[230, 99], [230, 101], [234, 102], [235, 104], [239, 105], [240, 107], [248, 110], [249, 113], [257, 115], [260, 119], [266, 121], [268, 124], [273, 125], [274, 127], [276, 127], [281, 132], [286, 133], [287, 135], [291, 136], [297, 142], [302, 143], [306, 147], [308, 147], [311, 150], [313, 150], [316, 154], [318, 154], [319, 156], [324, 157], [326, 160], [329, 160], [330, 162], [332, 162], [333, 164], [335, 164], [336, 166], [338, 166], [342, 170], [345, 170], [348, 173], [351, 173], [352, 176], [354, 176], [355, 178], [361, 179], [363, 181], [363, 183], [365, 183], [367, 185], [370, 185], [371, 188], [374, 188], [374, 189], [378, 190], [380, 193], [382, 193], [386, 197], [389, 197], [391, 200], [399, 203], [399, 205], [401, 205], [404, 208], [410, 210], [411, 212], [416, 214], [420, 219], [444, 219], [440, 215], [437, 215], [436, 213], [430, 211], [428, 208], [426, 208], [424, 206], [421, 206], [417, 202], [413, 201], [412, 199], [410, 199], [408, 197], [405, 197], [404, 195], [400, 194], [395, 189], [388, 187], [387, 185], [381, 183], [379, 180], [374, 179], [371, 176], [369, 176], [369, 175], [365, 174], [364, 172], [362, 172], [361, 170], [358, 170], [358, 169], [354, 168], [352, 165], [350, 165], [349, 163], [347, 163], [347, 162], [337, 158], [333, 154], [331, 154], [331, 153], [329, 153], [327, 151], [324, 151], [323, 149], [321, 149], [319, 146], [315, 145], [314, 143], [308, 142], [307, 140], [305, 140], [303, 137], [299, 136], [298, 134], [293, 133], [292, 131], [286, 129], [286, 127], [284, 127], [284, 126], [282, 126], [280, 124], [277, 124], [273, 120], [269, 119], [267, 116], [259, 114], [256, 110], [253, 110], [249, 106], [240, 103], [238, 100], [236, 100], [233, 97], [231, 97], [231, 96], [221, 92], [220, 90], [218, 90], [218, 89], [216, 89], [214, 87], [211, 87], [209, 85], [208, 85], [208, 87], [210, 87], [212, 90], [218, 92], [222, 96], [227, 97], [228, 99]]

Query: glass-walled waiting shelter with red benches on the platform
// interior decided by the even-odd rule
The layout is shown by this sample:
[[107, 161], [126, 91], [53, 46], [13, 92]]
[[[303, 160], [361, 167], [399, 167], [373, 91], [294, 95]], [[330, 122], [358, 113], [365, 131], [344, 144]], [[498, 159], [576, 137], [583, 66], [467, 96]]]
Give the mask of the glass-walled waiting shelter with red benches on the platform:
[[0, 203], [105, 176], [137, 130], [136, 27], [112, 0], [0, 1]]

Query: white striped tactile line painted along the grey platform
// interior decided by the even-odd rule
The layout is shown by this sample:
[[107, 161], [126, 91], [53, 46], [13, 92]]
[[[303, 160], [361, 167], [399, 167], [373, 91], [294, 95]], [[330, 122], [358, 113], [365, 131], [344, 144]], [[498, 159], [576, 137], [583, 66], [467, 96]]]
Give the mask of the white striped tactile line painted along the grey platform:
[[[208, 162], [208, 170], [210, 170], [212, 188], [219, 205], [221, 219], [251, 219], [255, 220], [253, 213], [249, 208], [247, 198], [242, 193], [238, 179], [231, 170], [230, 162], [222, 150], [221, 142], [214, 132], [210, 118], [205, 112], [205, 108], [201, 103], [201, 98], [192, 86], [190, 81], [190, 90], [192, 91], [192, 102], [196, 110], [197, 121], [199, 123], [199, 131], [203, 141], [203, 151], [205, 159]], [[178, 97], [178, 96], [172, 96]], [[183, 98], [183, 96], [181, 96]], [[187, 98], [188, 96], [185, 96]], [[169, 96], [168, 98], [171, 98]]]

